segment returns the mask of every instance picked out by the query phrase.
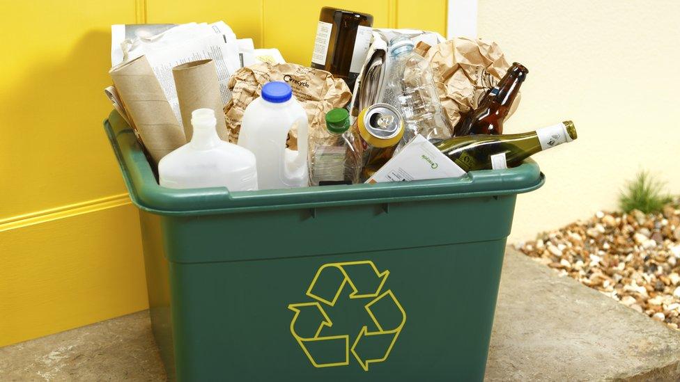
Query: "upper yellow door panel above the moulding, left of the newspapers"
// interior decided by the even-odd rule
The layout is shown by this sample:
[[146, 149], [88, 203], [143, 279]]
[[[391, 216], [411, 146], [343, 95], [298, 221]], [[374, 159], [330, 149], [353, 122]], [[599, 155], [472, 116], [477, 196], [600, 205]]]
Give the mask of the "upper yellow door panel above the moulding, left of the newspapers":
[[110, 25], [135, 1], [2, 1], [0, 219], [125, 191], [102, 130]]

